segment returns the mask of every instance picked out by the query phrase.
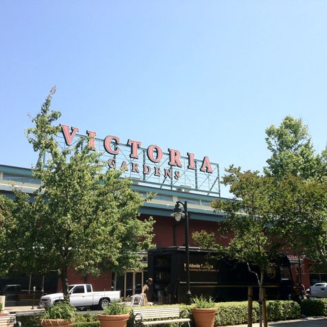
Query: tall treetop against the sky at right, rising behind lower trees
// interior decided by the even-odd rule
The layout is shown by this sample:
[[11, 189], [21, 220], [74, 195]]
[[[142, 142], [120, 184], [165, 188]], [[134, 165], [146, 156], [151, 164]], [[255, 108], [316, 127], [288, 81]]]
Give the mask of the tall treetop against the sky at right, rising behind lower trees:
[[279, 127], [266, 129], [266, 143], [271, 157], [264, 172], [278, 179], [287, 175], [302, 178], [327, 175], [326, 151], [315, 155], [313, 143], [308, 133], [308, 126], [301, 119], [287, 116]]

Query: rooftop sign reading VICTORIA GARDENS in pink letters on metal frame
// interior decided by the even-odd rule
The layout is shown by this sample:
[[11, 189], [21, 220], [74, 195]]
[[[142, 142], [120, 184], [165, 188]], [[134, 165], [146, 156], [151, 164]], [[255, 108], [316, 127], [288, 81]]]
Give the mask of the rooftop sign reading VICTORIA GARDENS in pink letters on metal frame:
[[[77, 127], [61, 124], [61, 132], [63, 146], [71, 146], [83, 137]], [[168, 148], [168, 152], [163, 152], [155, 144], [141, 148], [141, 141], [128, 139], [121, 143], [115, 135], [97, 139], [96, 132], [87, 130], [86, 134], [90, 148], [103, 153], [101, 159], [108, 162], [109, 168], [122, 170], [123, 177], [134, 183], [220, 194], [219, 165], [210, 162], [209, 157], [199, 160], [190, 152], [184, 157], [179, 150]]]

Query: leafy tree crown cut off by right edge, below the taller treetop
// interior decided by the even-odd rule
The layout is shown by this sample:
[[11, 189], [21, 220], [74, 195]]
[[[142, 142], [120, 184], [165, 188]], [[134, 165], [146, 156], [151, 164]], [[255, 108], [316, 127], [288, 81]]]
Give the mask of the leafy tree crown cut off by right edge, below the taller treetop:
[[272, 210], [290, 251], [327, 267], [327, 179], [288, 175], [277, 181]]

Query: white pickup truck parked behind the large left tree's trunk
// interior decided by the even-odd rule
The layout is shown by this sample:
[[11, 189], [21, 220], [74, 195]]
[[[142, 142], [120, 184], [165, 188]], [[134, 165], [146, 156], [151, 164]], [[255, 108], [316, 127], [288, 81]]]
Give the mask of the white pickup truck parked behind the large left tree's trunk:
[[[120, 290], [103, 290], [93, 292], [91, 284], [75, 284], [68, 286], [70, 303], [76, 307], [100, 306], [106, 308], [110, 302], [120, 299]], [[41, 308], [53, 306], [63, 300], [63, 293], [43, 295], [40, 299]]]

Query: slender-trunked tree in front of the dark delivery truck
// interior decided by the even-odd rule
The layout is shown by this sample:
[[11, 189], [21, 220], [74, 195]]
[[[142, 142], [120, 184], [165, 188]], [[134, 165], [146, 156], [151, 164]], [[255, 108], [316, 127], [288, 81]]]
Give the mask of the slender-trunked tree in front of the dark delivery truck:
[[219, 231], [230, 237], [230, 244], [226, 248], [228, 255], [259, 268], [257, 277], [262, 324], [264, 278], [281, 246], [281, 241], [276, 237], [278, 232], [271, 224], [270, 195], [274, 183], [272, 178], [261, 176], [257, 171], [241, 172], [240, 168], [230, 166], [226, 172], [223, 184], [230, 187], [234, 199], [217, 199], [212, 203], [212, 208], [226, 215], [225, 221], [219, 224]]

